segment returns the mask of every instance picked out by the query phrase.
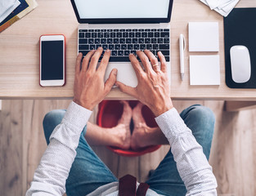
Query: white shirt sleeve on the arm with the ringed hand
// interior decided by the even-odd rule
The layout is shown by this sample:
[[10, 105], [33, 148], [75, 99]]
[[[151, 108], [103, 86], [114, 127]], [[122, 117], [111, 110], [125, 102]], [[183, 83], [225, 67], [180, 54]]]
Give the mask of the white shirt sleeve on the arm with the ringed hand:
[[186, 186], [186, 195], [217, 195], [212, 167], [177, 110], [170, 109], [155, 121], [171, 145], [177, 171]]

